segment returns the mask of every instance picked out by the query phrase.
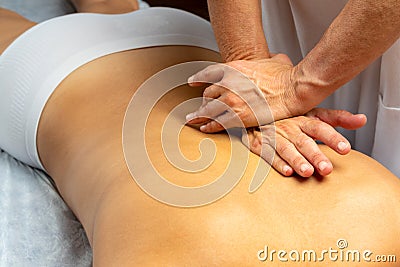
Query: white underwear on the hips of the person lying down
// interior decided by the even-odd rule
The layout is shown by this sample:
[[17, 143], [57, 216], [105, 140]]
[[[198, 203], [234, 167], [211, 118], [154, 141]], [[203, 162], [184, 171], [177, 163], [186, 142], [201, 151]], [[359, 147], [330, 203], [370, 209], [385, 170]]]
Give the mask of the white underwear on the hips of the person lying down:
[[162, 45], [218, 51], [209, 22], [172, 8], [72, 14], [29, 29], [0, 56], [0, 147], [44, 169], [36, 147], [37, 129], [43, 108], [61, 81], [96, 58]]

